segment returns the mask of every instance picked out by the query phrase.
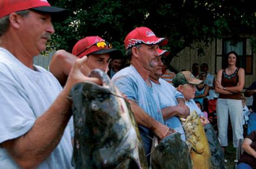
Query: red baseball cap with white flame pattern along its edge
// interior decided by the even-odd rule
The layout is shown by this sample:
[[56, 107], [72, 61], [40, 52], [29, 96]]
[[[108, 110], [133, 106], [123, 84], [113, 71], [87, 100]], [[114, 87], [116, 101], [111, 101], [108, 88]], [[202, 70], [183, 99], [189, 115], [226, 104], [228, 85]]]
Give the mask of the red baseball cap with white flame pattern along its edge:
[[160, 45], [165, 46], [168, 43], [166, 38], [157, 38], [155, 33], [146, 27], [139, 27], [133, 29], [132, 32], [128, 33], [126, 38], [124, 39], [124, 46], [127, 49], [144, 43], [146, 45]]

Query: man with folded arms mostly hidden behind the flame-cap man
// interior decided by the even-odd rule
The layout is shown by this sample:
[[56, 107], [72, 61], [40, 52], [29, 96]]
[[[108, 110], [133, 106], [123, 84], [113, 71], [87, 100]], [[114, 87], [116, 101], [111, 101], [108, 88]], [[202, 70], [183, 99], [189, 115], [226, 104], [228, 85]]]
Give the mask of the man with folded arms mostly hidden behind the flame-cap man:
[[[167, 50], [159, 49], [158, 53], [160, 56], [167, 57], [169, 52]], [[162, 109], [163, 119], [165, 124], [171, 129], [176, 130], [180, 133], [180, 138], [186, 141], [185, 131], [179, 120], [179, 117], [186, 118], [189, 115], [189, 108], [185, 104], [185, 99], [182, 93], [178, 92], [173, 85], [163, 80], [162, 68], [163, 62], [162, 57], [159, 59], [158, 65], [150, 72], [150, 79], [153, 82], [153, 88], [157, 92], [159, 97], [160, 107]]]

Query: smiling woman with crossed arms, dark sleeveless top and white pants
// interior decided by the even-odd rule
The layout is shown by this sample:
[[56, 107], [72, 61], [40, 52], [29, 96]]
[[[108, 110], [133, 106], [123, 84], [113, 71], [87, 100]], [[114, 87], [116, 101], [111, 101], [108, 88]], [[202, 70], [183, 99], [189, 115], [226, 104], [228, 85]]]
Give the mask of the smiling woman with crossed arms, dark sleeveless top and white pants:
[[244, 88], [244, 69], [237, 66], [238, 54], [231, 51], [227, 54], [227, 67], [218, 70], [215, 92], [219, 93], [216, 113], [218, 121], [218, 137], [221, 146], [228, 146], [228, 115], [232, 126], [233, 146], [243, 137], [241, 91]]

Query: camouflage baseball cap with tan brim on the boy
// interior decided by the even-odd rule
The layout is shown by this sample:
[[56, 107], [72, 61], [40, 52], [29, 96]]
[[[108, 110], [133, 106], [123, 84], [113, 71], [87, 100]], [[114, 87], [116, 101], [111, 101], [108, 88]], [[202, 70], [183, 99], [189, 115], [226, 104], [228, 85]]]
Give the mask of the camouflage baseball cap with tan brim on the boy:
[[189, 71], [183, 71], [177, 73], [172, 79], [172, 83], [174, 87], [178, 87], [179, 85], [191, 84], [191, 85], [199, 85], [204, 81], [196, 79], [195, 76]]

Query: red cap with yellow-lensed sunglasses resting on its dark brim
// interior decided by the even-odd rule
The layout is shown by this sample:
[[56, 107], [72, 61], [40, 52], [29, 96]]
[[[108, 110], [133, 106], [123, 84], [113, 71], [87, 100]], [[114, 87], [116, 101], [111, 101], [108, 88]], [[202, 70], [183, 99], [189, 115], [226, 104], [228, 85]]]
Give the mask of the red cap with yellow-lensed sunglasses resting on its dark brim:
[[111, 45], [109, 46], [109, 43], [107, 42], [105, 42], [106, 45], [98, 47], [97, 43], [99, 42], [105, 42], [105, 40], [100, 38], [99, 36], [87, 36], [86, 38], [83, 38], [76, 43], [72, 50], [72, 53], [78, 58], [83, 58], [83, 56], [89, 54], [101, 55], [104, 53], [109, 53], [111, 58], [123, 55], [120, 50], [112, 49]]

